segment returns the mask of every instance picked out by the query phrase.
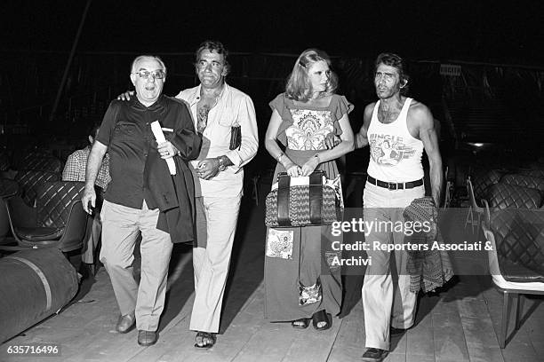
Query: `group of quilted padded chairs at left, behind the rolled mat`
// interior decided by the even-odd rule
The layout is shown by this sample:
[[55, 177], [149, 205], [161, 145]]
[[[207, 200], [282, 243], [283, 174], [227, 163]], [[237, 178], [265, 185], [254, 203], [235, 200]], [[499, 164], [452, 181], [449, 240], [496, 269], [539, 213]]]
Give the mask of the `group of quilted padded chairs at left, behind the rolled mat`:
[[60, 181], [62, 161], [48, 153], [29, 152], [18, 163], [13, 179], [4, 180], [15, 183], [17, 192], [3, 197], [18, 247], [54, 247], [64, 253], [82, 248], [87, 224], [81, 206], [84, 183]]

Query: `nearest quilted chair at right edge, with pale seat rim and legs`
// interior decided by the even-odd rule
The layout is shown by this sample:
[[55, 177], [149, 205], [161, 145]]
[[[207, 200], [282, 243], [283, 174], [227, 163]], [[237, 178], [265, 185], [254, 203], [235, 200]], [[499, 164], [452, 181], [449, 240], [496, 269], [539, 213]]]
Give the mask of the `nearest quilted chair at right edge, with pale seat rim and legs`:
[[492, 282], [503, 294], [499, 345], [506, 346], [510, 296], [516, 299], [516, 330], [523, 319], [523, 295], [544, 295], [544, 210], [501, 209], [483, 224]]

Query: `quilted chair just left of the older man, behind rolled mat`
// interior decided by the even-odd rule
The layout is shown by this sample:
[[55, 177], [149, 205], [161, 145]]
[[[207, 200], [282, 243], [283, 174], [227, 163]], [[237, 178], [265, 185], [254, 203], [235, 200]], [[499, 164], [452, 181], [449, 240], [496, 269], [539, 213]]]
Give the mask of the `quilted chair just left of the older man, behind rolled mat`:
[[87, 214], [81, 206], [83, 182], [45, 182], [36, 192], [36, 207], [20, 197], [6, 202], [12, 234], [20, 247], [59, 248], [68, 253], [83, 246]]

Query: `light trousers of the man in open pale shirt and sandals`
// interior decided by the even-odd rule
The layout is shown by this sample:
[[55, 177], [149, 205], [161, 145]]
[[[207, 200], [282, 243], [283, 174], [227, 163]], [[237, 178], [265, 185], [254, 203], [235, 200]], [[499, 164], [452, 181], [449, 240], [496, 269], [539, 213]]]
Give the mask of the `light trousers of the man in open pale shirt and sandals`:
[[195, 303], [189, 328], [217, 333], [242, 195], [196, 198]]

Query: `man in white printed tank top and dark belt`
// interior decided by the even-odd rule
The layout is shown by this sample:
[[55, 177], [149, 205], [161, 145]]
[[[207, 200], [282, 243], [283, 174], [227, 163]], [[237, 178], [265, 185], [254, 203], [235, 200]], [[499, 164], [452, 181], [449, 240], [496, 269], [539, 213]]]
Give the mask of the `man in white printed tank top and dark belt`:
[[[364, 220], [391, 225], [403, 223], [404, 208], [425, 195], [423, 150], [430, 165], [431, 194], [439, 205], [442, 158], [433, 115], [427, 106], [404, 96], [408, 84], [404, 60], [396, 54], [382, 53], [375, 67], [374, 85], [380, 99], [364, 109], [364, 124], [356, 134], [356, 147], [370, 146], [371, 152], [364, 187]], [[395, 253], [398, 283], [394, 285], [390, 253], [377, 248], [381, 244], [402, 244], [404, 233], [393, 232], [390, 227], [376, 227], [368, 232], [366, 242], [370, 243], [368, 256], [372, 257], [372, 264], [366, 269], [363, 285], [363, 360], [380, 361], [388, 354], [390, 334], [412, 327], [417, 295], [410, 291], [406, 251]]]

